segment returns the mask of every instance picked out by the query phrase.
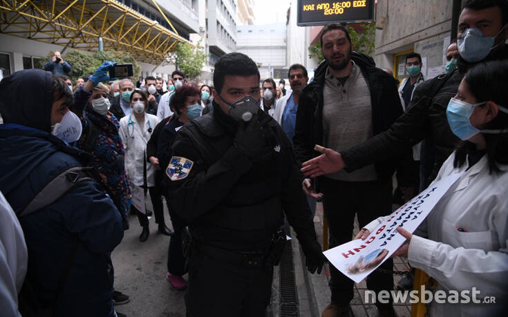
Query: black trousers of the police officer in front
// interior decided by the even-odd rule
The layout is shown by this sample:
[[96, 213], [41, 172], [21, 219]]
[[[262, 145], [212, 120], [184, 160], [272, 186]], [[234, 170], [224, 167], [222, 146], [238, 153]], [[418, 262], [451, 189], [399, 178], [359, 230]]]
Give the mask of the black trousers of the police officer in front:
[[265, 316], [272, 276], [273, 267], [230, 265], [193, 251], [185, 293], [187, 316]]

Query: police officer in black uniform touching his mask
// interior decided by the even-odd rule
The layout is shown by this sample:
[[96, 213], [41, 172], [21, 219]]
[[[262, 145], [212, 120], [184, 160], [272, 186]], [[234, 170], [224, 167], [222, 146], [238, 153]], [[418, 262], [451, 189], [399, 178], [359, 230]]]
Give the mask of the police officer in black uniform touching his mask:
[[187, 316], [265, 314], [284, 215], [308, 270], [323, 266], [291, 143], [259, 107], [259, 78], [246, 55], [220, 57], [214, 111], [183, 126], [171, 148], [171, 208], [193, 237]]

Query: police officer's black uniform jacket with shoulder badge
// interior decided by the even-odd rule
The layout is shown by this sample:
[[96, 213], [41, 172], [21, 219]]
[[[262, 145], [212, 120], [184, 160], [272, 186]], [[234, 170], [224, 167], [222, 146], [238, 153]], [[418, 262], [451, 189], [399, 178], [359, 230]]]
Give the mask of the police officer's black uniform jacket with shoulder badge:
[[260, 109], [265, 154], [251, 160], [234, 146], [236, 122], [214, 108], [185, 124], [173, 142], [172, 157], [194, 164], [187, 177], [169, 182], [171, 209], [198, 240], [243, 251], [267, 247], [285, 214], [305, 251], [316, 236], [288, 137]]

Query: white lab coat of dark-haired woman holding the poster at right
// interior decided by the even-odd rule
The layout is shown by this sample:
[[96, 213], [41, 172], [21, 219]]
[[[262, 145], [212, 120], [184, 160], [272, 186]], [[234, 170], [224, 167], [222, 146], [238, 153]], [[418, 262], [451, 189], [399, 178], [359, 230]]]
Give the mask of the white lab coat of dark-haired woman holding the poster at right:
[[[436, 180], [454, 169], [455, 153]], [[431, 304], [431, 316], [506, 316], [508, 300], [508, 166], [489, 174], [487, 155], [466, 171], [415, 231], [408, 248], [409, 264], [438, 280], [437, 290], [472, 290], [496, 296], [493, 304]], [[370, 222], [373, 231], [382, 221]], [[458, 230], [465, 229], [467, 232]], [[427, 237], [427, 238], [422, 238]]]

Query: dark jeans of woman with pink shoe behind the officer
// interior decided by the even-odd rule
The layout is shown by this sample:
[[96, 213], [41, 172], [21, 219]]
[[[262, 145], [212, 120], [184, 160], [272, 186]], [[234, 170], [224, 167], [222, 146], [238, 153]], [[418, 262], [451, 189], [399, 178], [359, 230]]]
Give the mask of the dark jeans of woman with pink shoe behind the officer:
[[185, 222], [178, 215], [171, 211], [169, 200], [166, 197], [169, 216], [173, 223], [173, 232], [175, 233], [169, 239], [169, 247], [167, 251], [167, 271], [173, 275], [182, 276], [185, 273], [185, 258], [182, 252], [182, 231], [185, 228]]

